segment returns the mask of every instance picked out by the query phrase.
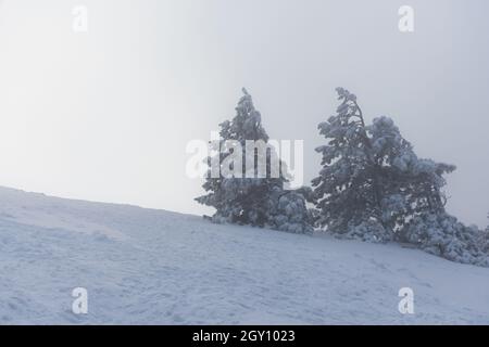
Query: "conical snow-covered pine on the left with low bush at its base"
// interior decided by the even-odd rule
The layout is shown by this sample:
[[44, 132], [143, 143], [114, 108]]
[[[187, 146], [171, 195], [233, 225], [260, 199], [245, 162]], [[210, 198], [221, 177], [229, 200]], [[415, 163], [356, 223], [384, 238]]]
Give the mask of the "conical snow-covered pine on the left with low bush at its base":
[[[203, 184], [208, 194], [196, 200], [216, 209], [212, 217], [214, 222], [310, 233], [313, 229], [305, 200], [300, 191], [284, 189], [287, 181], [286, 167], [276, 158], [274, 149], [268, 146], [266, 152], [265, 177], [258, 175], [260, 171], [258, 151], [253, 150], [252, 153], [246, 151], [247, 140], [263, 141], [266, 144], [268, 136], [262, 126], [260, 112], [254, 108], [251, 95], [246, 89], [242, 91], [243, 97], [238, 102], [235, 117], [220, 125], [221, 140], [216, 149], [218, 153], [215, 154], [217, 157], [208, 158], [210, 170]], [[235, 152], [237, 149], [233, 143], [239, 144], [241, 152]], [[272, 175], [274, 156], [279, 165], [278, 177]], [[250, 168], [247, 167], [247, 158], [250, 157], [254, 163], [251, 168], [252, 177], [249, 177]], [[230, 158], [237, 160], [229, 160]], [[218, 177], [211, 175], [213, 160], [218, 163]], [[234, 165], [239, 165], [239, 162], [241, 176], [223, 175], [228, 169], [234, 170]]]

